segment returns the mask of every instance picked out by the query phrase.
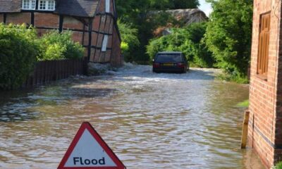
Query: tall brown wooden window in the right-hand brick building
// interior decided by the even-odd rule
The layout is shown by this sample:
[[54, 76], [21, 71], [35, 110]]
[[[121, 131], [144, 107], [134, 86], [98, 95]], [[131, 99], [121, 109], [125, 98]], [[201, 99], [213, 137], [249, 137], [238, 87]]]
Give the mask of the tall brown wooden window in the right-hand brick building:
[[259, 23], [259, 54], [257, 57], [257, 74], [266, 78], [269, 63], [270, 13], [261, 15]]

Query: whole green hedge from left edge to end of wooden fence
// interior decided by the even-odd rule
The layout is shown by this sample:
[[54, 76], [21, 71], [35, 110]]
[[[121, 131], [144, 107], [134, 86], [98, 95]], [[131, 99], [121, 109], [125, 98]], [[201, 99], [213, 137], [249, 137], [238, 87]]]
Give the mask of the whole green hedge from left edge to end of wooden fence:
[[51, 31], [39, 38], [32, 27], [0, 24], [0, 90], [20, 87], [36, 61], [82, 58], [84, 49], [71, 36]]

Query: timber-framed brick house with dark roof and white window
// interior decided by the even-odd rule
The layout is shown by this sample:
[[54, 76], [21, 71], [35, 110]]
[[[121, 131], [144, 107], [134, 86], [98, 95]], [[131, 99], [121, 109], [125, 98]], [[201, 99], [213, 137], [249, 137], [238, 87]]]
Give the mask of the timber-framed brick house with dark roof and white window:
[[72, 30], [94, 63], [123, 63], [116, 20], [114, 0], [0, 0], [0, 23], [33, 25], [39, 35]]

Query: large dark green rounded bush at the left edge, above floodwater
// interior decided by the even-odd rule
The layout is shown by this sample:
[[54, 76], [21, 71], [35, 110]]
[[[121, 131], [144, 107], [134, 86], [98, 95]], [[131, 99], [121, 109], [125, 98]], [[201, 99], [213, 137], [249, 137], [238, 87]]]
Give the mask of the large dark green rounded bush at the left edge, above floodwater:
[[37, 58], [35, 30], [25, 25], [0, 24], [0, 89], [20, 87]]

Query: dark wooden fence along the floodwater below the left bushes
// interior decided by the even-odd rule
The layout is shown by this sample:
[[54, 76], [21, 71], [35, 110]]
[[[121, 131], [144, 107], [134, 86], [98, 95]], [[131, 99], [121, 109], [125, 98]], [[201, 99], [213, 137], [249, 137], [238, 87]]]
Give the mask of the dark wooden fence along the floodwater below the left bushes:
[[65, 79], [71, 75], [85, 75], [86, 71], [87, 59], [40, 61], [35, 65], [33, 73], [28, 77], [23, 87], [35, 87], [51, 81]]

